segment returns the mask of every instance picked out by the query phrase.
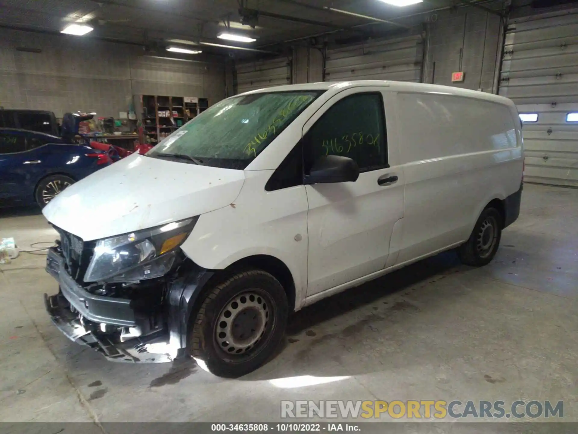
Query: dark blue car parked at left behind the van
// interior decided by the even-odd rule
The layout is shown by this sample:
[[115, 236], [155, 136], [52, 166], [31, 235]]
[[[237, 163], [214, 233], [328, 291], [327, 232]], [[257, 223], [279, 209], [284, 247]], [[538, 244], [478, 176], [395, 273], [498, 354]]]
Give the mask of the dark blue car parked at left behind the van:
[[58, 193], [112, 164], [108, 154], [60, 137], [0, 128], [0, 205], [45, 207]]

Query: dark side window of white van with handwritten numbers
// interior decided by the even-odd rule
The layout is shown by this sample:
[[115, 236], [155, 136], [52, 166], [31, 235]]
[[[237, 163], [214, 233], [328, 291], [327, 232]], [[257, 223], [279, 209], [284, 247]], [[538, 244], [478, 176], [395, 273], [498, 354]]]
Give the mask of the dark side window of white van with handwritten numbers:
[[361, 172], [387, 167], [387, 137], [380, 93], [350, 95], [336, 102], [307, 132], [305, 173], [323, 155], [355, 160]]

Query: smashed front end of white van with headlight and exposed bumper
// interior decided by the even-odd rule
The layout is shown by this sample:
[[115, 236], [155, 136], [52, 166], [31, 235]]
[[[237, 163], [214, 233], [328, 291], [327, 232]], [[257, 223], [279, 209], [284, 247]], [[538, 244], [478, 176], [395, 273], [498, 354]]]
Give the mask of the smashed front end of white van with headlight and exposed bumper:
[[[45, 294], [53, 323], [66, 337], [110, 361], [162, 363], [183, 354], [187, 318], [175, 318], [175, 313], [181, 316], [183, 312], [180, 293], [184, 285], [179, 285], [177, 270], [186, 258], [177, 248], [180, 243], [162, 249], [166, 240], [177, 238], [172, 233], [180, 240], [193, 225], [164, 226], [167, 236], [160, 230], [149, 230], [144, 236], [128, 234], [128, 238], [123, 236], [128, 242], [116, 251], [109, 240], [121, 237], [84, 242], [55, 227], [60, 241], [49, 249], [46, 271], [57, 280], [59, 291]], [[108, 247], [102, 247], [105, 244]], [[98, 258], [99, 254], [112, 255], [112, 259]], [[136, 266], [122, 269], [126, 264], [115, 264], [131, 255], [136, 255]], [[91, 276], [98, 278], [91, 281]], [[176, 306], [171, 306], [171, 298]]]

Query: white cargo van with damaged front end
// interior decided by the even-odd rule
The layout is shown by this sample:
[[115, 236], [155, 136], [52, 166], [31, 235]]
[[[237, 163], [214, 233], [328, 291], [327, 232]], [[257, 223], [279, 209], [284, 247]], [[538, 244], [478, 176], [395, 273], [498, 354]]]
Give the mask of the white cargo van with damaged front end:
[[382, 81], [227, 98], [43, 214], [54, 323], [107, 358], [240, 376], [287, 315], [447, 249], [483, 266], [520, 211], [512, 101]]

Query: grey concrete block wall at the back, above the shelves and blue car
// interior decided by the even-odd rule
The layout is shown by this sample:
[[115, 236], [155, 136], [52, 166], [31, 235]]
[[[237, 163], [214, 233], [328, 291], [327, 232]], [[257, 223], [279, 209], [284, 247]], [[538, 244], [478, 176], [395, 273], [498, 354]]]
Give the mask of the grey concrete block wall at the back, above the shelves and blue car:
[[4, 108], [118, 117], [139, 94], [197, 96], [214, 104], [225, 97], [224, 65], [147, 57], [142, 47], [90, 38], [0, 30]]

